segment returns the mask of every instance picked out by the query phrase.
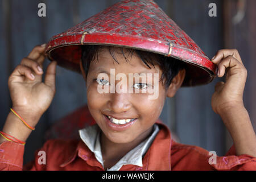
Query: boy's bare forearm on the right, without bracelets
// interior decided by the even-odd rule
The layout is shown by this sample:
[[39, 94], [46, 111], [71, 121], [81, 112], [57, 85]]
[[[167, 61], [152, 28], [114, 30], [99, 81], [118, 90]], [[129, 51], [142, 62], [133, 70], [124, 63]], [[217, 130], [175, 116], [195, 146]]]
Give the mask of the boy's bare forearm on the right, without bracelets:
[[220, 116], [233, 138], [236, 155], [247, 154], [256, 157], [256, 135], [245, 107], [226, 107]]

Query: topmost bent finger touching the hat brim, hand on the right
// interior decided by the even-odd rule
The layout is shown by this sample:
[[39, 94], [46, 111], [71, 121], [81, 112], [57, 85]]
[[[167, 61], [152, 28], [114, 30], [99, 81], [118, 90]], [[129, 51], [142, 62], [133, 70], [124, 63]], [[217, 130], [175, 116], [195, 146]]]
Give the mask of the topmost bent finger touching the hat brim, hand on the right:
[[218, 64], [220, 63], [220, 61], [222, 59], [224, 59], [225, 57], [228, 57], [228, 56], [233, 56], [234, 58], [236, 58], [241, 64], [242, 63], [242, 60], [241, 60], [241, 57], [237, 51], [237, 49], [220, 49], [216, 55], [212, 58], [212, 62], [215, 63], [215, 64]]

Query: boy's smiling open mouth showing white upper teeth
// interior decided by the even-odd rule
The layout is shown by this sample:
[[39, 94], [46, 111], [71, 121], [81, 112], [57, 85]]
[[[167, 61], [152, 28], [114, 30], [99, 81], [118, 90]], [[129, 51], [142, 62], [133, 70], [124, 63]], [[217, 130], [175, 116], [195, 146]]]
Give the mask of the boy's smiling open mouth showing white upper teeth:
[[115, 131], [123, 131], [128, 129], [133, 123], [137, 121], [138, 118], [130, 118], [130, 119], [117, 119], [113, 118], [110, 115], [105, 115], [106, 122], [108, 123], [108, 126]]

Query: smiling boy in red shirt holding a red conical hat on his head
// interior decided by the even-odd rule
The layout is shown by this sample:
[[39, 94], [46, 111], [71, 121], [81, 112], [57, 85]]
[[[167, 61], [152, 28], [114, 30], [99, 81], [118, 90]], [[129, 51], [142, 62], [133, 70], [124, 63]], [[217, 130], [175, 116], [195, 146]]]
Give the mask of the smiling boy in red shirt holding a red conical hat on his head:
[[[122, 12], [127, 13], [124, 11], [127, 10], [127, 6], [135, 6], [138, 9], [143, 6], [143, 10], [150, 9], [162, 13], [162, 11], [158, 11], [157, 5], [150, 0], [123, 1], [114, 5], [113, 10], [121, 8]], [[107, 9], [97, 16], [108, 15], [110, 10], [112, 9]], [[143, 14], [143, 18], [147, 20], [150, 17], [155, 18], [158, 14], [154, 15], [152, 13], [154, 11], [150, 11], [147, 15]], [[113, 13], [111, 15], [113, 16]], [[163, 16], [161, 17], [163, 18]], [[104, 27], [104, 22], [108, 22], [108, 24], [111, 22], [106, 21], [105, 17], [101, 20], [100, 28]], [[98, 24], [98, 21], [93, 21], [92, 18], [88, 22], [97, 22], [96, 24]], [[88, 24], [92, 26], [88, 22], [85, 21], [79, 26], [86, 27]], [[81, 30], [86, 28], [79, 26], [70, 30], [76, 30], [76, 34], [65, 32], [53, 37], [47, 46], [45, 44], [36, 46], [9, 77], [10, 95], [13, 101], [13, 110], [16, 113], [14, 111], [9, 113], [2, 130], [3, 133], [1, 133], [0, 169], [256, 169], [256, 136], [242, 101], [247, 71], [236, 49], [222, 49], [210, 61], [188, 37], [180, 39], [180, 41], [189, 42], [188, 47], [193, 47], [192, 55], [187, 48], [177, 45], [175, 42], [166, 44], [163, 43], [163, 39], [144, 39], [141, 37], [142, 32], [139, 33], [139, 36], [131, 36], [130, 39], [133, 38], [133, 41], [129, 42], [124, 41], [123, 36], [120, 36], [123, 34], [110, 32], [111, 34], [106, 36], [102, 33], [105, 31], [101, 29], [97, 32], [98, 27], [92, 28], [93, 26], [88, 29], [91, 31], [84, 31], [81, 34]], [[109, 30], [108, 27], [104, 28]], [[175, 28], [175, 26], [171, 28]], [[164, 28], [161, 27], [162, 29]], [[179, 28], [177, 30], [181, 32]], [[143, 33], [146, 34], [146, 32]], [[75, 46], [65, 45], [62, 40], [65, 38], [64, 35], [67, 38], [72, 36], [72, 41], [77, 38], [80, 46], [74, 42], [72, 43]], [[185, 33], [182, 35], [186, 36]], [[164, 37], [164, 40], [167, 39], [167, 36], [169, 34]], [[93, 40], [98, 44], [92, 43]], [[143, 40], [146, 46], [141, 44]], [[105, 42], [103, 46], [102, 41]], [[110, 45], [111, 41], [112, 44], [115, 43], [115, 46]], [[126, 44], [120, 45], [123, 43], [122, 41]], [[130, 44], [134, 44], [134, 47], [131, 47]], [[147, 47], [148, 44], [151, 46]], [[143, 48], [139, 46], [143, 46]], [[55, 58], [58, 59], [58, 62], [52, 61], [48, 65], [45, 81], [42, 82], [42, 66], [46, 56], [44, 51], [48, 53], [49, 59]], [[193, 60], [189, 59], [191, 56]], [[70, 63], [68, 57], [72, 57], [69, 59]], [[77, 59], [77, 57], [79, 58]], [[79, 60], [77, 63], [76, 59]], [[42, 114], [51, 104], [55, 94], [57, 63], [73, 70], [79, 67], [86, 83], [88, 109], [96, 121], [96, 125], [80, 130], [79, 140], [48, 140], [40, 149], [46, 152], [46, 164], [39, 164], [39, 156], [35, 155], [34, 163], [23, 167], [23, 142], [27, 140], [31, 130], [34, 129]], [[204, 65], [204, 63], [207, 64]], [[224, 76], [226, 72], [226, 82], [216, 84], [212, 96], [212, 109], [221, 116], [233, 138], [234, 146], [225, 156], [217, 156], [216, 163], [212, 164], [209, 162], [208, 151], [172, 140], [170, 130], [159, 121], [159, 115], [166, 98], [174, 97], [180, 86], [206, 84], [211, 81], [215, 71], [214, 65], [218, 68], [219, 77]], [[110, 72], [111, 69], [114, 69], [115, 75], [110, 75], [113, 73]], [[101, 75], [102, 73], [105, 75]], [[111, 89], [116, 89], [115, 85], [117, 85], [118, 79], [115, 79], [115, 84], [113, 84], [109, 78], [115, 78], [118, 74], [122, 74], [122, 78], [125, 78], [129, 77], [129, 74], [136, 75], [136, 73], [157, 74], [159, 79], [158, 81], [152, 79], [152, 82], [148, 82], [150, 78], [146, 77], [147, 81], [144, 82], [141, 78], [136, 80], [137, 75], [133, 79], [133, 84], [129, 85], [127, 81], [122, 81], [122, 84], [117, 87], [119, 88], [118, 92], [110, 92]], [[213, 75], [211, 75], [212, 73]], [[152, 94], [148, 91], [156, 86], [158, 87], [158, 97], [148, 99], [148, 96]], [[109, 90], [109, 92], [100, 93], [98, 92], [99, 88]], [[137, 90], [137, 92], [130, 93], [129, 89]], [[143, 90], [146, 92], [142, 93]], [[17, 113], [20, 114], [23, 122], [20, 121], [19, 115], [18, 117], [15, 115]]]

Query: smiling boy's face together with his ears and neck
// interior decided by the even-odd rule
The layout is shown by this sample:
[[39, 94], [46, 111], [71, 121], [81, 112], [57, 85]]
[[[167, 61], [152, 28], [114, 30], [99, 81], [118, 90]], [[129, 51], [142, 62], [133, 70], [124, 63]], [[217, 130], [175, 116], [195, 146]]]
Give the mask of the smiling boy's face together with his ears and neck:
[[[87, 47], [84, 49], [86, 48]], [[133, 52], [131, 53], [127, 49], [113, 48], [113, 51], [115, 51], [114, 56], [115, 59], [118, 60], [118, 63], [113, 61], [112, 54], [110, 54], [108, 47], [98, 49], [100, 50], [98, 50], [97, 56], [94, 56], [94, 60], [91, 61], [88, 73], [84, 72], [82, 61], [80, 62], [80, 67], [82, 75], [86, 80], [88, 109], [102, 131], [101, 152], [104, 168], [110, 168], [125, 156], [127, 152], [131, 151], [150, 136], [153, 131], [153, 125], [158, 120], [163, 109], [166, 97], [174, 96], [184, 80], [185, 70], [183, 69], [183, 71], [178, 73], [172, 80], [172, 85], [168, 89], [166, 89], [166, 85], [164, 85], [164, 83], [166, 84], [168, 81], [167, 78], [165, 78], [162, 83], [160, 83], [159, 80], [152, 82], [153, 87], [157, 86], [159, 88], [157, 91], [158, 98], [154, 100], [148, 98], [150, 95], [148, 90], [146, 93], [142, 93], [142, 90], [147, 88], [147, 82], [140, 81], [134, 82], [133, 85], [133, 89], [139, 90], [139, 93], [129, 93], [126, 87], [127, 89], [122, 89], [121, 93], [102, 94], [98, 93], [98, 86], [100, 84], [108, 89], [110, 89], [111, 86], [109, 85], [110, 80], [104, 80], [104, 84], [100, 83], [98, 80], [98, 75], [102, 72], [106, 73], [114, 68], [115, 74], [117, 75], [118, 73], [129, 75], [130, 73], [140, 72], [162, 75], [162, 70], [159, 65], [155, 65], [155, 68], [148, 68], [141, 60], [141, 57]], [[124, 52], [125, 55], [123, 55], [122, 52]], [[86, 51], [86, 54], [90, 54], [89, 51]], [[148, 53], [148, 57], [150, 56], [155, 56], [154, 59], [163, 59], [160, 56], [156, 57], [153, 53], [151, 53], [151, 55]], [[177, 62], [177, 60], [172, 61]], [[171, 60], [169, 63], [171, 64]], [[181, 65], [182, 63], [180, 67]], [[177, 72], [178, 68], [178, 66], [175, 68], [172, 67], [172, 70], [176, 69]], [[172, 74], [174, 73], [172, 72]], [[140, 84], [146, 86], [140, 87]], [[110, 117], [110, 119], [108, 117]], [[119, 122], [123, 119], [132, 119], [133, 121], [118, 125], [115, 123], [117, 119]]]

